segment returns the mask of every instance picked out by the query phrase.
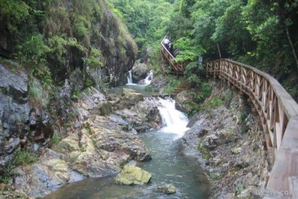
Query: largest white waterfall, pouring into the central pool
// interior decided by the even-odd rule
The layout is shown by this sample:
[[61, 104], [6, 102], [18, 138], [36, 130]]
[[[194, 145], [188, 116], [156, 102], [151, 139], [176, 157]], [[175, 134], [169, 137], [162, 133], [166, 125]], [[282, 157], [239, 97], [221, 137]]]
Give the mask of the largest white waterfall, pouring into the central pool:
[[189, 128], [186, 127], [188, 119], [186, 115], [175, 108], [175, 100], [158, 98], [158, 110], [162, 118], [162, 132], [177, 134], [176, 138], [183, 136]]

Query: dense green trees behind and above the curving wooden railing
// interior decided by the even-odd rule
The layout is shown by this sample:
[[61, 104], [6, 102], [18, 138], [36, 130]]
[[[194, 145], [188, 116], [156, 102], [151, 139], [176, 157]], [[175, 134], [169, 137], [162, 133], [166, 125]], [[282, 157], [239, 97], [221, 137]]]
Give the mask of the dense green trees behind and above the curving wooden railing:
[[153, 65], [168, 35], [179, 49], [176, 60], [189, 67], [202, 55], [229, 58], [269, 72], [298, 98], [298, 0], [111, 1], [139, 49], [154, 48]]

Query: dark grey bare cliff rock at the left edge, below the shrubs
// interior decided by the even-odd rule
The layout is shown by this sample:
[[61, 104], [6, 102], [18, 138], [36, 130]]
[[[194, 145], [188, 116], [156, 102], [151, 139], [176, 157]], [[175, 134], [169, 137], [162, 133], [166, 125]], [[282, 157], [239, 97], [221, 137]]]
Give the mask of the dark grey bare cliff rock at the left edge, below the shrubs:
[[31, 149], [32, 142], [46, 145], [52, 136], [46, 110], [30, 105], [28, 76], [12, 73], [0, 65], [0, 170], [12, 160], [21, 145]]

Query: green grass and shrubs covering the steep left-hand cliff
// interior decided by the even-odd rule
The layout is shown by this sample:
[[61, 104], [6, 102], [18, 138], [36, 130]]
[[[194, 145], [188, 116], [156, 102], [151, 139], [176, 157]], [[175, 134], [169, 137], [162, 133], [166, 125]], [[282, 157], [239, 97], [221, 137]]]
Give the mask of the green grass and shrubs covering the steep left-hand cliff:
[[[109, 67], [103, 66], [103, 32], [114, 32], [108, 52], [117, 48], [124, 57], [130, 48], [136, 54], [126, 26], [110, 10], [106, 0], [0, 0], [0, 37], [12, 52], [6, 57], [29, 71], [33, 104], [47, 106], [42, 98], [51, 96], [75, 68], [80, 68], [84, 88], [94, 84], [87, 70]], [[34, 84], [35, 78], [41, 85]]]

